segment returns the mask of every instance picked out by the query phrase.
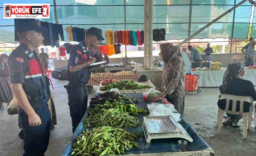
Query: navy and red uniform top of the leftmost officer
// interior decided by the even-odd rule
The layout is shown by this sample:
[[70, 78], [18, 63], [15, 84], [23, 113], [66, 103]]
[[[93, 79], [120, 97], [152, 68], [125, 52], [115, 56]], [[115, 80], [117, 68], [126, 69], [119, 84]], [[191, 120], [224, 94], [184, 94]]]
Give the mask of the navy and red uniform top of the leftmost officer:
[[20, 43], [8, 57], [10, 79], [11, 84], [22, 83], [25, 93], [32, 98], [38, 96], [38, 103], [45, 103], [50, 95], [49, 82], [44, 79], [36, 58], [39, 60], [36, 52]]

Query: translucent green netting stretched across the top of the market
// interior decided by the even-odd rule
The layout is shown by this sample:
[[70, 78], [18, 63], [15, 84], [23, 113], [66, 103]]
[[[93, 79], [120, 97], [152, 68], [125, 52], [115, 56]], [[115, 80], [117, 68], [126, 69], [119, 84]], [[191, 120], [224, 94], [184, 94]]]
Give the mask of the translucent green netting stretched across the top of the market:
[[[241, 0], [193, 0], [191, 14], [191, 33], [234, 7]], [[126, 0], [126, 29], [142, 30], [144, 28], [144, 0]], [[0, 41], [14, 42], [14, 20], [4, 19], [3, 5], [17, 3], [16, 0], [0, 1]], [[20, 0], [18, 3], [49, 3], [53, 0]], [[188, 35], [190, 0], [153, 0], [153, 28], [165, 28], [166, 39], [185, 39]], [[57, 17], [63, 27], [72, 25], [79, 28], [91, 26], [105, 30], [124, 30], [124, 1], [123, 0], [56, 0]], [[196, 35], [194, 38], [231, 38], [245, 39], [248, 26], [252, 22], [251, 36], [256, 36], [256, 20], [251, 18], [252, 5], [245, 2], [242, 6], [227, 14], [215, 24]], [[254, 11], [255, 12], [255, 11]], [[252, 17], [255, 17], [252, 14]], [[234, 23], [233, 23], [234, 18]], [[50, 7], [50, 19], [41, 19], [55, 23], [54, 7]], [[11, 36], [6, 38], [5, 34]], [[65, 33], [64, 33], [65, 34]]]

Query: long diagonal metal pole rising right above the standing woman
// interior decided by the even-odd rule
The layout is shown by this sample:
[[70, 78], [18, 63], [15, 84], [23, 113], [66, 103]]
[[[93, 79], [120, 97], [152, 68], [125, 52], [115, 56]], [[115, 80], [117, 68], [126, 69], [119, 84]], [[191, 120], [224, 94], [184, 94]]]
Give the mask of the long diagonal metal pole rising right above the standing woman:
[[195, 35], [199, 34], [201, 31], [205, 30], [206, 28], [208, 28], [210, 25], [214, 24], [216, 21], [218, 21], [220, 18], [224, 17], [226, 14], [230, 13], [231, 11], [233, 11], [235, 8], [239, 7], [240, 5], [244, 4], [247, 0], [242, 0], [240, 3], [238, 3], [237, 5], [235, 5], [234, 7], [232, 7], [231, 9], [227, 10], [225, 13], [223, 13], [222, 15], [220, 15], [219, 17], [215, 18], [215, 20], [211, 21], [210, 23], [208, 23], [206, 26], [204, 26], [203, 28], [199, 29], [197, 32], [195, 32], [194, 34], [192, 34], [190, 37], [186, 38], [184, 41], [182, 41], [181, 43], [179, 43], [177, 46], [181, 46], [183, 45], [183, 43], [186, 43], [187, 41], [189, 41], [191, 38], [195, 37]]

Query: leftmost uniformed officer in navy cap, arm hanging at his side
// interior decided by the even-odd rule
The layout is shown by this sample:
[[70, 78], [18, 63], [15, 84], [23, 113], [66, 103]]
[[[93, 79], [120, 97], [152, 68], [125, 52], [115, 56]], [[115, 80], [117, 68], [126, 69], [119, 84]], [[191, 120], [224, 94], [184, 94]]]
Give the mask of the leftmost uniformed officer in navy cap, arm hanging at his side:
[[11, 88], [18, 104], [19, 121], [24, 131], [23, 156], [44, 156], [50, 138], [49, 80], [34, 51], [48, 29], [41, 28], [35, 19], [18, 22], [16, 30], [20, 45], [9, 55]]

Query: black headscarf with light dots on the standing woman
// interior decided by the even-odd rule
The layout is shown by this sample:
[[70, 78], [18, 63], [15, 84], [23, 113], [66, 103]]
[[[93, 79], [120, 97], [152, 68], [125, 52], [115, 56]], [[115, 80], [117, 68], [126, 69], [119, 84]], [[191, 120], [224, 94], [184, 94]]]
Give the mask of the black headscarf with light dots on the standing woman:
[[172, 43], [164, 43], [160, 45], [164, 63], [171, 62], [173, 59], [182, 57], [178, 46], [174, 46]]

